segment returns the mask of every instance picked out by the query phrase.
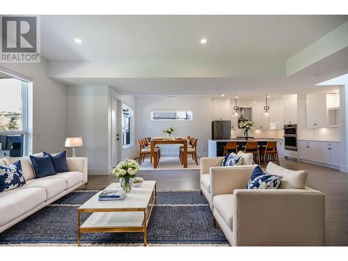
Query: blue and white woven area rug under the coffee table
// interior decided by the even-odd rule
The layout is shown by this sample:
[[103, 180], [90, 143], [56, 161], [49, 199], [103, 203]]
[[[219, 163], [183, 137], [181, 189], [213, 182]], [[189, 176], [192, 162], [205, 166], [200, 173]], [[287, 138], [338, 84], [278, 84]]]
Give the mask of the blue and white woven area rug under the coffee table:
[[[0, 233], [0, 244], [77, 245], [77, 208], [97, 191], [74, 191]], [[88, 214], [82, 216], [82, 221]], [[142, 246], [143, 233], [82, 233], [85, 246]], [[148, 224], [148, 246], [228, 246], [199, 191], [158, 191]]]

